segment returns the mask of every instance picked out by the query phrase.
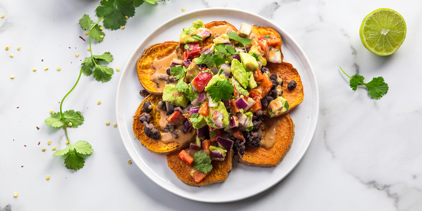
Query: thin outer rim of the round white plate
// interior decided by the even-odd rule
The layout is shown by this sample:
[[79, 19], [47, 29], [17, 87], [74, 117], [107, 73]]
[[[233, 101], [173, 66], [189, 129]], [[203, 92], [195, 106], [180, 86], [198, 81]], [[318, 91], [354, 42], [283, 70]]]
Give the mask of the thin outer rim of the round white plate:
[[[206, 199], [198, 199], [198, 198], [194, 198], [194, 197], [189, 197], [189, 196], [186, 196], [186, 195], [183, 195], [183, 194], [181, 194], [180, 192], [176, 192], [176, 191], [174, 191], [173, 189], [169, 189], [168, 187], [165, 187], [165, 185], [164, 184], [161, 184], [161, 182], [160, 181], [157, 181], [157, 179], [155, 178], [155, 177], [153, 177], [153, 175], [150, 175], [149, 173], [147, 173], [146, 172], [146, 170], [144, 170], [144, 168], [148, 168], [147, 166], [143, 166], [144, 164], [140, 164], [136, 159], [134, 159], [134, 155], [130, 152], [131, 150], [129, 149], [129, 144], [127, 144], [125, 141], [124, 141], [124, 137], [123, 137], [123, 134], [122, 134], [122, 127], [121, 127], [121, 125], [122, 124], [120, 124], [120, 123], [124, 123], [124, 121], [120, 121], [120, 120], [122, 120], [122, 119], [124, 119], [124, 118], [122, 118], [121, 117], [121, 115], [119, 114], [119, 92], [121, 92], [121, 90], [120, 89], [122, 89], [121, 87], [122, 87], [122, 81], [123, 81], [123, 76], [124, 76], [124, 74], [127, 72], [127, 71], [129, 71], [129, 70], [127, 70], [128, 68], [129, 68], [129, 63], [130, 63], [130, 61], [132, 61], [133, 60], [133, 57], [135, 57], [135, 54], [137, 54], [137, 52], [139, 51], [139, 48], [144, 44], [144, 43], [146, 43], [146, 41], [147, 41], [147, 39], [148, 38], [150, 38], [151, 37], [151, 35], [153, 35], [154, 33], [156, 33], [156, 32], [158, 32], [163, 26], [165, 26], [165, 25], [167, 25], [168, 23], [170, 23], [170, 22], [173, 22], [173, 21], [175, 21], [176, 19], [182, 19], [183, 17], [185, 17], [185, 16], [190, 16], [190, 15], [192, 15], [192, 14], [194, 14], [194, 13], [200, 13], [200, 12], [204, 12], [204, 11], [227, 11], [227, 12], [229, 12], [229, 11], [235, 11], [235, 12], [240, 12], [240, 13], [244, 13], [244, 14], [247, 14], [247, 15], [250, 15], [250, 16], [254, 16], [255, 18], [258, 18], [258, 19], [262, 19], [262, 20], [264, 20], [264, 21], [266, 21], [266, 22], [268, 22], [268, 23], [270, 23], [270, 24], [273, 24], [274, 26], [276, 26], [276, 27], [278, 27], [278, 29], [284, 34], [284, 35], [286, 35], [291, 41], [292, 41], [292, 43], [298, 48], [298, 51], [300, 52], [300, 54], [302, 54], [302, 56], [304, 57], [304, 59], [305, 59], [305, 61], [306, 61], [306, 64], [309, 66], [309, 69], [311, 70], [311, 76], [312, 76], [312, 78], [314, 79], [313, 80], [313, 82], [314, 82], [314, 84], [315, 84], [315, 89], [316, 90], [314, 90], [315, 91], [315, 97], [316, 97], [316, 105], [315, 105], [315, 107], [316, 107], [316, 114], [315, 114], [315, 120], [312, 122], [309, 122], [309, 126], [308, 126], [308, 130], [309, 129], [311, 129], [311, 131], [310, 131], [310, 137], [309, 137], [309, 139], [310, 139], [310, 141], [308, 141], [308, 143], [306, 143], [306, 148], [305, 148], [305, 150], [303, 150], [303, 152], [301, 152], [301, 154], [298, 156], [298, 157], [300, 157], [299, 159], [298, 159], [298, 161], [295, 163], [295, 165], [293, 165], [291, 168], [289, 168], [288, 170], [287, 170], [287, 173], [284, 175], [284, 176], [282, 176], [278, 181], [276, 181], [274, 184], [272, 184], [272, 185], [270, 185], [269, 187], [266, 187], [265, 189], [262, 189], [262, 190], [260, 190], [260, 191], [258, 191], [258, 192], [256, 192], [255, 194], [252, 194], [252, 195], [248, 195], [248, 196], [245, 196], [245, 197], [239, 197], [239, 198], [236, 198], [236, 199], [232, 199], [232, 200], [206, 200]], [[303, 64], [303, 62], [301, 62], [299, 59], [298, 59], [298, 62], [300, 62], [301, 63], [301, 65], [303, 65], [304, 66], [304, 64]], [[271, 187], [273, 187], [274, 185], [276, 185], [276, 184], [278, 184], [281, 180], [283, 180], [287, 175], [289, 175], [289, 173], [291, 173], [292, 172], [292, 170], [293, 169], [295, 169], [296, 168], [296, 166], [299, 164], [299, 162], [303, 159], [303, 156], [305, 155], [305, 153], [306, 153], [306, 151], [308, 151], [308, 148], [309, 148], [309, 146], [310, 146], [310, 144], [311, 144], [311, 142], [312, 142], [312, 140], [313, 140], [313, 138], [314, 138], [314, 135], [315, 135], [315, 132], [316, 132], [316, 130], [317, 130], [317, 124], [318, 124], [318, 118], [319, 118], [319, 89], [318, 89], [318, 83], [317, 83], [317, 78], [316, 78], [316, 76], [315, 76], [315, 72], [314, 72], [314, 69], [312, 68], [312, 66], [311, 66], [311, 63], [310, 63], [310, 61], [309, 61], [309, 59], [308, 59], [308, 57], [306, 56], [306, 54], [305, 54], [305, 52], [303, 51], [303, 49], [299, 46], [299, 44], [295, 41], [295, 39], [294, 38], [292, 38], [292, 36], [291, 35], [289, 35], [289, 33], [287, 33], [283, 28], [281, 28], [278, 24], [276, 24], [276, 23], [274, 23], [273, 21], [271, 21], [271, 20], [269, 20], [269, 19], [267, 19], [267, 18], [265, 18], [265, 17], [262, 17], [262, 16], [260, 16], [260, 15], [257, 15], [257, 14], [254, 14], [254, 13], [252, 13], [252, 12], [249, 12], [249, 11], [245, 11], [245, 10], [241, 10], [241, 9], [235, 9], [235, 8], [222, 8], [222, 7], [217, 7], [217, 8], [203, 8], [203, 9], [198, 9], [198, 10], [194, 10], [194, 11], [190, 11], [190, 12], [188, 12], [188, 13], [186, 13], [186, 14], [181, 14], [181, 15], [179, 15], [179, 16], [176, 16], [176, 17], [173, 17], [173, 18], [171, 18], [171, 19], [169, 19], [168, 21], [166, 21], [166, 22], [164, 22], [163, 24], [161, 24], [160, 26], [158, 26], [155, 30], [153, 30], [152, 32], [150, 32], [148, 35], [146, 35], [146, 37], [145, 38], [143, 38], [143, 40], [138, 44], [138, 46], [136, 46], [136, 48], [135, 48], [135, 50], [133, 51], [133, 53], [130, 55], [130, 57], [127, 59], [127, 62], [126, 62], [126, 64], [124, 65], [124, 68], [123, 68], [123, 70], [122, 70], [122, 75], [120, 76], [120, 78], [119, 78], [119, 83], [118, 83], [118, 85], [117, 85], [117, 90], [116, 90], [116, 120], [117, 120], [117, 127], [118, 127], [118, 130], [119, 130], [119, 134], [120, 134], [120, 138], [122, 139], [122, 142], [123, 142], [123, 145], [124, 145], [124, 147], [125, 147], [125, 149], [126, 149], [126, 151], [128, 152], [128, 154], [129, 154], [129, 156], [133, 159], [133, 162], [135, 162], [135, 164], [138, 166], [138, 168], [140, 168], [141, 169], [141, 171], [151, 180], [151, 181], [154, 181], [154, 183], [155, 184], [157, 184], [158, 186], [160, 186], [160, 187], [162, 187], [163, 189], [165, 189], [165, 190], [167, 190], [167, 191], [169, 191], [169, 192], [171, 192], [171, 193], [173, 193], [173, 194], [175, 194], [175, 195], [178, 195], [178, 196], [180, 196], [180, 197], [184, 197], [184, 198], [186, 198], [186, 199], [189, 199], [189, 200], [194, 200], [194, 201], [199, 201], [199, 202], [207, 202], [207, 203], [227, 203], [227, 202], [233, 202], [233, 201], [238, 201], [238, 200], [243, 200], [243, 199], [246, 199], [246, 198], [249, 198], [249, 197], [252, 197], [252, 196], [254, 196], [254, 195], [257, 195], [257, 194], [260, 194], [260, 193], [262, 193], [262, 192], [265, 192], [266, 190], [268, 190], [268, 189], [270, 189]], [[313, 127], [313, 128], [311, 128], [311, 127]], [[125, 126], [125, 129], [126, 129], [126, 126]], [[304, 137], [304, 139], [305, 139], [306, 137]], [[138, 154], [138, 152], [137, 151], [135, 151], [136, 152], [136, 154]], [[152, 170], [151, 170], [152, 171]]]

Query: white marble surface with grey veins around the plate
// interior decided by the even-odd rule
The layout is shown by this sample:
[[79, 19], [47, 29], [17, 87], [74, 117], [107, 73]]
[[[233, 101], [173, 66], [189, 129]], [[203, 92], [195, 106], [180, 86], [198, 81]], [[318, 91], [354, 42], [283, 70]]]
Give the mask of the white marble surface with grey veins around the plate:
[[[170, 0], [143, 4], [124, 30], [106, 31], [103, 43], [92, 49], [111, 51], [113, 68], [123, 68], [135, 46], [158, 25], [183, 14], [181, 8], [187, 12], [227, 7], [260, 14], [303, 48], [320, 95], [311, 146], [279, 184], [249, 199], [222, 204], [173, 195], [136, 165], [127, 164], [130, 157], [117, 128], [105, 125], [116, 122], [119, 72], [107, 83], [82, 76], [63, 105], [64, 110], [84, 114], [84, 124], [69, 130], [69, 136], [92, 144], [95, 151], [85, 167], [68, 170], [61, 158], [51, 156], [52, 146], [65, 147], [65, 136], [44, 119], [49, 110], [59, 110], [58, 102], [78, 77], [80, 60], [89, 54], [88, 43], [78, 38], [87, 37], [78, 19], [83, 14], [94, 16], [98, 4], [97, 0], [0, 2], [0, 14], [5, 14], [0, 19], [0, 210], [8, 210], [7, 205], [12, 211], [422, 210], [422, 2]], [[365, 49], [358, 33], [362, 19], [383, 7], [398, 11], [407, 24], [406, 40], [388, 57]], [[76, 53], [81, 56], [75, 57]], [[387, 95], [373, 100], [365, 88], [352, 91], [339, 65], [367, 79], [383, 76], [390, 87]], [[45, 66], [49, 70], [43, 70]], [[42, 147], [47, 150], [42, 152]], [[47, 181], [46, 175], [51, 179]]]

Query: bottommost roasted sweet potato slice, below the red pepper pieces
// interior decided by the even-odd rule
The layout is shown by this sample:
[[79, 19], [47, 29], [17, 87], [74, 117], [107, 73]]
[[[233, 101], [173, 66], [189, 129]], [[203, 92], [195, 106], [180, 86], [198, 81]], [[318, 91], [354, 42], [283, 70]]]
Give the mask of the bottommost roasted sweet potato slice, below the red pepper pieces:
[[227, 176], [229, 176], [230, 170], [232, 170], [232, 160], [233, 160], [233, 150], [230, 153], [226, 154], [224, 161], [211, 161], [211, 165], [213, 166], [212, 170], [208, 175], [199, 183], [196, 183], [193, 178], [189, 175], [190, 168], [187, 166], [182, 160], [177, 158], [179, 155], [178, 151], [174, 151], [171, 154], [167, 155], [167, 163], [168, 167], [176, 174], [176, 176], [185, 184], [190, 186], [203, 186], [213, 183], [219, 183], [225, 181]]

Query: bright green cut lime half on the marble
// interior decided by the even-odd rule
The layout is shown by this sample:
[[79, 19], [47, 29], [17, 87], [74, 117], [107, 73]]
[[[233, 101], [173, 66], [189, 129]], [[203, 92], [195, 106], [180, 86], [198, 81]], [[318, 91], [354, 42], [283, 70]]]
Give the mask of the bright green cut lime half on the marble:
[[374, 54], [387, 56], [401, 46], [406, 37], [406, 22], [398, 12], [380, 8], [368, 14], [359, 30], [363, 46]]

